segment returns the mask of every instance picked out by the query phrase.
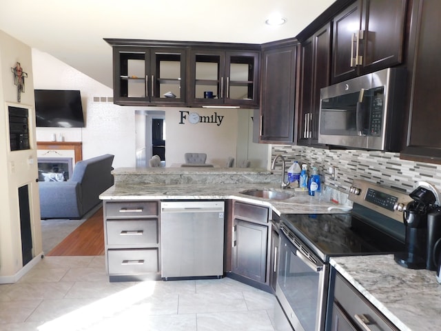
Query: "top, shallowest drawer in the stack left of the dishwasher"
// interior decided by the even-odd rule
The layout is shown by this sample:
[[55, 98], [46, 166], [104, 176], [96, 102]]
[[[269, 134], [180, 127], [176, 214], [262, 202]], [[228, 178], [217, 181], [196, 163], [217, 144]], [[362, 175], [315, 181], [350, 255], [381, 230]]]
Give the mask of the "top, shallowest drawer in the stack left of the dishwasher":
[[157, 201], [106, 202], [105, 217], [127, 219], [133, 217], [158, 216]]

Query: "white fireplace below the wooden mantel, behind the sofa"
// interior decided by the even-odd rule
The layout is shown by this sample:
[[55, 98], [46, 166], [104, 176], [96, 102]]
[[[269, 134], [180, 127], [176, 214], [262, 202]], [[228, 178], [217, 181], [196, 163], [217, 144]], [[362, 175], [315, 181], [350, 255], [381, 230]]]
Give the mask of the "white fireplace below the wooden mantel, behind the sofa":
[[39, 181], [67, 181], [72, 176], [72, 157], [39, 157]]

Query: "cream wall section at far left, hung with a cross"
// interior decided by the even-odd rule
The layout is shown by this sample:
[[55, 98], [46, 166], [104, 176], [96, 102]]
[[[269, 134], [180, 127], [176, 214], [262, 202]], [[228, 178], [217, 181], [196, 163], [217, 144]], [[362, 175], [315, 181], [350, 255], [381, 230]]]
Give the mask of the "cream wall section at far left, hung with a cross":
[[[17, 101], [17, 86], [11, 68], [21, 63], [25, 91]], [[30, 129], [30, 149], [10, 151], [8, 106], [27, 108]], [[38, 192], [37, 145], [34, 120], [34, 86], [30, 47], [0, 30], [0, 283], [17, 281], [23, 270], [39, 261], [41, 254], [40, 201]], [[18, 188], [28, 185], [32, 232], [32, 263], [23, 267]]]

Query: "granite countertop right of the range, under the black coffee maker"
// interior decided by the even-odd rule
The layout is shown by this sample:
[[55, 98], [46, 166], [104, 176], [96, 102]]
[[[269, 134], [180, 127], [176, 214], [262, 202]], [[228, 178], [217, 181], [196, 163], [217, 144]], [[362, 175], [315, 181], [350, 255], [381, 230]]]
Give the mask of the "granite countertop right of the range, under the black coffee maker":
[[404, 268], [393, 255], [334, 257], [330, 263], [398, 329], [440, 330], [441, 285], [434, 271]]

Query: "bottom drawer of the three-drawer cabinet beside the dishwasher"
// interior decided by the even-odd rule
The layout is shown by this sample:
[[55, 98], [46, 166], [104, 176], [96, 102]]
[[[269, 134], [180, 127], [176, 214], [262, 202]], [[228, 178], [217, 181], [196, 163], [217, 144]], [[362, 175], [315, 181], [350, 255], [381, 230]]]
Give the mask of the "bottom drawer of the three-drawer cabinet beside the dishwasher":
[[157, 248], [144, 250], [108, 250], [109, 274], [159, 272]]

